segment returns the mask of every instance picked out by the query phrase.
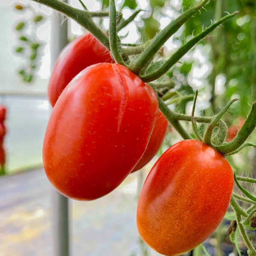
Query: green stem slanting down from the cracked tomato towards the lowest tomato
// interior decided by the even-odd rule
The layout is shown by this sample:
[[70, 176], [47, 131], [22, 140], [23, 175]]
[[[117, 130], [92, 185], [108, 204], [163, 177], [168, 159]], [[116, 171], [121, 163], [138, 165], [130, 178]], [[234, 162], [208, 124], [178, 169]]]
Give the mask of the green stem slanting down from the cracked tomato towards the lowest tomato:
[[180, 122], [174, 118], [175, 113], [168, 108], [168, 106], [164, 103], [164, 101], [159, 96], [157, 96], [157, 98], [158, 98], [160, 111], [162, 111], [164, 116], [166, 116], [166, 118], [169, 120], [169, 122], [172, 124], [172, 126], [180, 134], [180, 136], [183, 137], [184, 140], [192, 139], [191, 136], [182, 127]]

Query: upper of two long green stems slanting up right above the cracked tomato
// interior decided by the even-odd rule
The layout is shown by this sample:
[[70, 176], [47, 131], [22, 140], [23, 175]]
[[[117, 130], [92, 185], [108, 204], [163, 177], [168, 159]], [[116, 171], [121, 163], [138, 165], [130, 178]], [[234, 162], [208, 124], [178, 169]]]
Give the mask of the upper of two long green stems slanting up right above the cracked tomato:
[[[204, 0], [192, 9], [187, 10], [182, 15], [173, 20], [169, 25], [167, 25], [162, 31], [160, 31], [145, 51], [137, 58], [133, 63], [131, 63], [130, 70], [135, 74], [139, 74], [140, 70], [145, 67], [148, 62], [154, 57], [158, 50], [163, 46], [163, 44], [187, 21], [192, 15], [198, 12], [209, 0]], [[155, 80], [155, 79], [154, 79]], [[151, 80], [153, 81], [153, 80]]]

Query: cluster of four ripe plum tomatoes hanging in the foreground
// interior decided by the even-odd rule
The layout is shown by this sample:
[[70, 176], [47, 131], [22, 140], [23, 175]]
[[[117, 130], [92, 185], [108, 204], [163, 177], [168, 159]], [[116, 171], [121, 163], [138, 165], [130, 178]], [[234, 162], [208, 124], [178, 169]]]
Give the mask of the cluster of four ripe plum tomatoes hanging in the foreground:
[[[89, 33], [59, 56], [48, 95], [54, 108], [44, 138], [44, 169], [69, 198], [108, 194], [163, 143], [168, 121], [152, 88], [114, 64]], [[193, 249], [224, 217], [232, 189], [230, 164], [214, 148], [197, 140], [173, 145], [143, 185], [137, 207], [140, 236], [164, 255]]]

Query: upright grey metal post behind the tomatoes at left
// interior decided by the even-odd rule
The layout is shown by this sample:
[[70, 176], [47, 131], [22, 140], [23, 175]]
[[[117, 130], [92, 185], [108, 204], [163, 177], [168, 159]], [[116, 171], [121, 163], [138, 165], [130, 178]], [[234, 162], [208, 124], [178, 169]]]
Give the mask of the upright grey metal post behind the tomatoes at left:
[[[67, 0], [63, 2], [67, 3]], [[51, 35], [51, 68], [67, 41], [67, 20], [53, 11]], [[54, 256], [69, 256], [69, 206], [68, 199], [52, 189], [52, 228]]]

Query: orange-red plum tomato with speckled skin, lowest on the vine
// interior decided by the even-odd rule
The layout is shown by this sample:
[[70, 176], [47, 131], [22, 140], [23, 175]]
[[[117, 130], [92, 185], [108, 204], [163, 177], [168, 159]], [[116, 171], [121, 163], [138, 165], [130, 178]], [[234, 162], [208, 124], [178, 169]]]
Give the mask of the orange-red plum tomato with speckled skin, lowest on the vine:
[[176, 143], [151, 169], [137, 208], [142, 239], [164, 255], [203, 242], [225, 215], [233, 189], [230, 164], [197, 140]]

